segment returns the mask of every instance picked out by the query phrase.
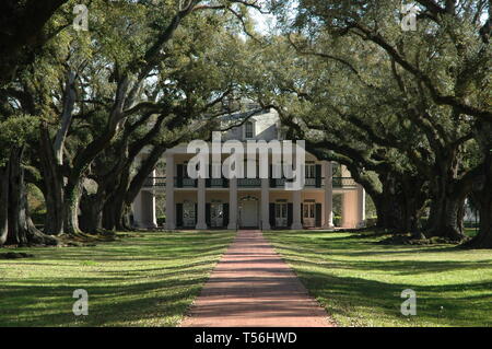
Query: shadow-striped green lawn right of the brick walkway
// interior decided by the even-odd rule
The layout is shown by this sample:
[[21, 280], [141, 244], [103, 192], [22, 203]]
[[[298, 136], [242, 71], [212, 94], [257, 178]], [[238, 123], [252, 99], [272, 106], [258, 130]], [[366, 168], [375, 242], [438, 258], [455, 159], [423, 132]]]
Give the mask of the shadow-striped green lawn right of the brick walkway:
[[[492, 251], [375, 244], [385, 236], [266, 232], [339, 326], [492, 326]], [[400, 313], [417, 292], [417, 315]]]

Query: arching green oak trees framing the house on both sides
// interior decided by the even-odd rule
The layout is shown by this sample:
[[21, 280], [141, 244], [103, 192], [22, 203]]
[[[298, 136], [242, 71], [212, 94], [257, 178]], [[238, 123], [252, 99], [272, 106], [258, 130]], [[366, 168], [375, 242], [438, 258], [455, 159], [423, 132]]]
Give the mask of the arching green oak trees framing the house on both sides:
[[[472, 198], [481, 225], [467, 245], [492, 246], [490, 1], [415, 1], [415, 31], [397, 0], [93, 0], [87, 32], [71, 25], [75, 4], [50, 1], [30, 31], [12, 23], [35, 5], [2, 4], [15, 16], [0, 27], [0, 243], [129, 228], [164, 151], [248, 98], [344, 164], [380, 228], [466, 241]], [[256, 31], [251, 11], [276, 30]], [[25, 183], [45, 196], [43, 233]]]

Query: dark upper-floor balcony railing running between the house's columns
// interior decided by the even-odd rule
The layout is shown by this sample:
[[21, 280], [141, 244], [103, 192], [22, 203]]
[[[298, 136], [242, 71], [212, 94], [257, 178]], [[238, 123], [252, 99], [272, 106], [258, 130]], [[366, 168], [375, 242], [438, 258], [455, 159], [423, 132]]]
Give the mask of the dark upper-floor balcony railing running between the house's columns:
[[[325, 187], [325, 178], [305, 178], [305, 186], [308, 188], [316, 187]], [[283, 188], [285, 185], [286, 178], [271, 178], [270, 187], [271, 188]], [[319, 183], [319, 185], [318, 185]], [[229, 188], [229, 179], [226, 178], [210, 178], [207, 179], [206, 183], [208, 188]], [[356, 182], [352, 177], [332, 177], [332, 187], [333, 188], [352, 188], [355, 187]], [[165, 187], [166, 186], [166, 177], [149, 177], [147, 178], [143, 187]], [[176, 188], [196, 188], [197, 179], [192, 178], [177, 178], [174, 177], [174, 186]], [[241, 188], [259, 188], [261, 187], [260, 178], [238, 178], [237, 186]]]

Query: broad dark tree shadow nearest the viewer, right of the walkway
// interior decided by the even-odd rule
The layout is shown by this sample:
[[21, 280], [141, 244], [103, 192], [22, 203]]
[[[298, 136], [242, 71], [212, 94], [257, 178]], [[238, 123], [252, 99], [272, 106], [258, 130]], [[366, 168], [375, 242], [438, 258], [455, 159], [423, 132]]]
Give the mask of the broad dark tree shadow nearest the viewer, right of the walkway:
[[[408, 283], [386, 283], [355, 277], [339, 277], [317, 271], [298, 271], [301, 281], [327, 309], [330, 315], [358, 318], [361, 309], [371, 309], [372, 316], [386, 316], [405, 325], [412, 318], [400, 313], [401, 291], [412, 289], [417, 293], [418, 316], [430, 325], [491, 326], [492, 282], [467, 284], [417, 286]], [[472, 294], [481, 292], [481, 295]], [[479, 319], [479, 322], [478, 322]], [[360, 325], [367, 325], [362, 318]], [[410, 322], [409, 325], [412, 323]]]

